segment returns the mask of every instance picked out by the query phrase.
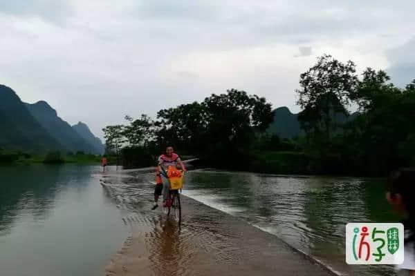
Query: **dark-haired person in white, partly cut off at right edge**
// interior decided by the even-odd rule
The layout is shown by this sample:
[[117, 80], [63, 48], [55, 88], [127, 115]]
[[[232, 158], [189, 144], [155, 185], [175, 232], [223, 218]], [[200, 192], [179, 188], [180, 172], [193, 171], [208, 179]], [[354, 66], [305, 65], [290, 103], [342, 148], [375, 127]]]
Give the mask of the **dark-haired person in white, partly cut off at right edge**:
[[399, 276], [415, 276], [415, 168], [391, 173], [386, 197], [392, 208], [404, 217], [404, 262], [396, 266]]

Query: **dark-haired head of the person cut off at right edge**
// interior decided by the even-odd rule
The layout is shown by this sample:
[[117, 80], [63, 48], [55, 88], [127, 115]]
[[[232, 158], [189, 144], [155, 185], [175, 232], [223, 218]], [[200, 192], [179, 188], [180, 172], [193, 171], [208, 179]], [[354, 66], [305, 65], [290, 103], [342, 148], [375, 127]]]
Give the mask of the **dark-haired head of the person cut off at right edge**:
[[415, 219], [415, 168], [400, 168], [387, 181], [387, 201], [400, 215]]

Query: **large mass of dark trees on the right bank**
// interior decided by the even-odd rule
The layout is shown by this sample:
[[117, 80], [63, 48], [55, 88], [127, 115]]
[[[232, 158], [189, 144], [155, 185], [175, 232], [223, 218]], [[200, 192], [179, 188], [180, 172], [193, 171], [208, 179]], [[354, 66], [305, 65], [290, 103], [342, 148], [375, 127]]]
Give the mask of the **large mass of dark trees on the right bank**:
[[[397, 88], [384, 71], [371, 68], [358, 78], [351, 61], [344, 65], [330, 56], [314, 68], [301, 76], [298, 90], [304, 106], [299, 121], [307, 138], [303, 148], [313, 157], [312, 171], [375, 176], [415, 165], [414, 83]], [[308, 81], [310, 72], [313, 81]], [[308, 97], [303, 97], [305, 91]], [[359, 112], [333, 126], [336, 114], [349, 115], [349, 103]]]

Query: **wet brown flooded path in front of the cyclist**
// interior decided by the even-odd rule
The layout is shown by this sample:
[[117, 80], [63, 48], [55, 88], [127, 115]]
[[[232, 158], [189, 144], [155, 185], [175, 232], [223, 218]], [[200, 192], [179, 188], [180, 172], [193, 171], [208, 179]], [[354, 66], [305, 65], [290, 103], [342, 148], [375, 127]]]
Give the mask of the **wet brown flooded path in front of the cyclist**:
[[124, 218], [132, 235], [105, 275], [331, 275], [277, 237], [182, 199], [180, 225], [149, 204]]

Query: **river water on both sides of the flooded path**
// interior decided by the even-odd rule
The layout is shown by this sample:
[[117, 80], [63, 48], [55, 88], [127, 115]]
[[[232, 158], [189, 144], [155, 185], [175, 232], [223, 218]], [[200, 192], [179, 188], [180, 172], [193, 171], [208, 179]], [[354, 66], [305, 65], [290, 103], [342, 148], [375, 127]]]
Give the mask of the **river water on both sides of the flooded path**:
[[[130, 235], [126, 219], [138, 210], [148, 213], [154, 175], [100, 170], [0, 167], [1, 275], [103, 275]], [[397, 219], [382, 179], [201, 170], [185, 180], [188, 197], [283, 239], [339, 273], [391, 275], [390, 266], [344, 262], [347, 222]]]

